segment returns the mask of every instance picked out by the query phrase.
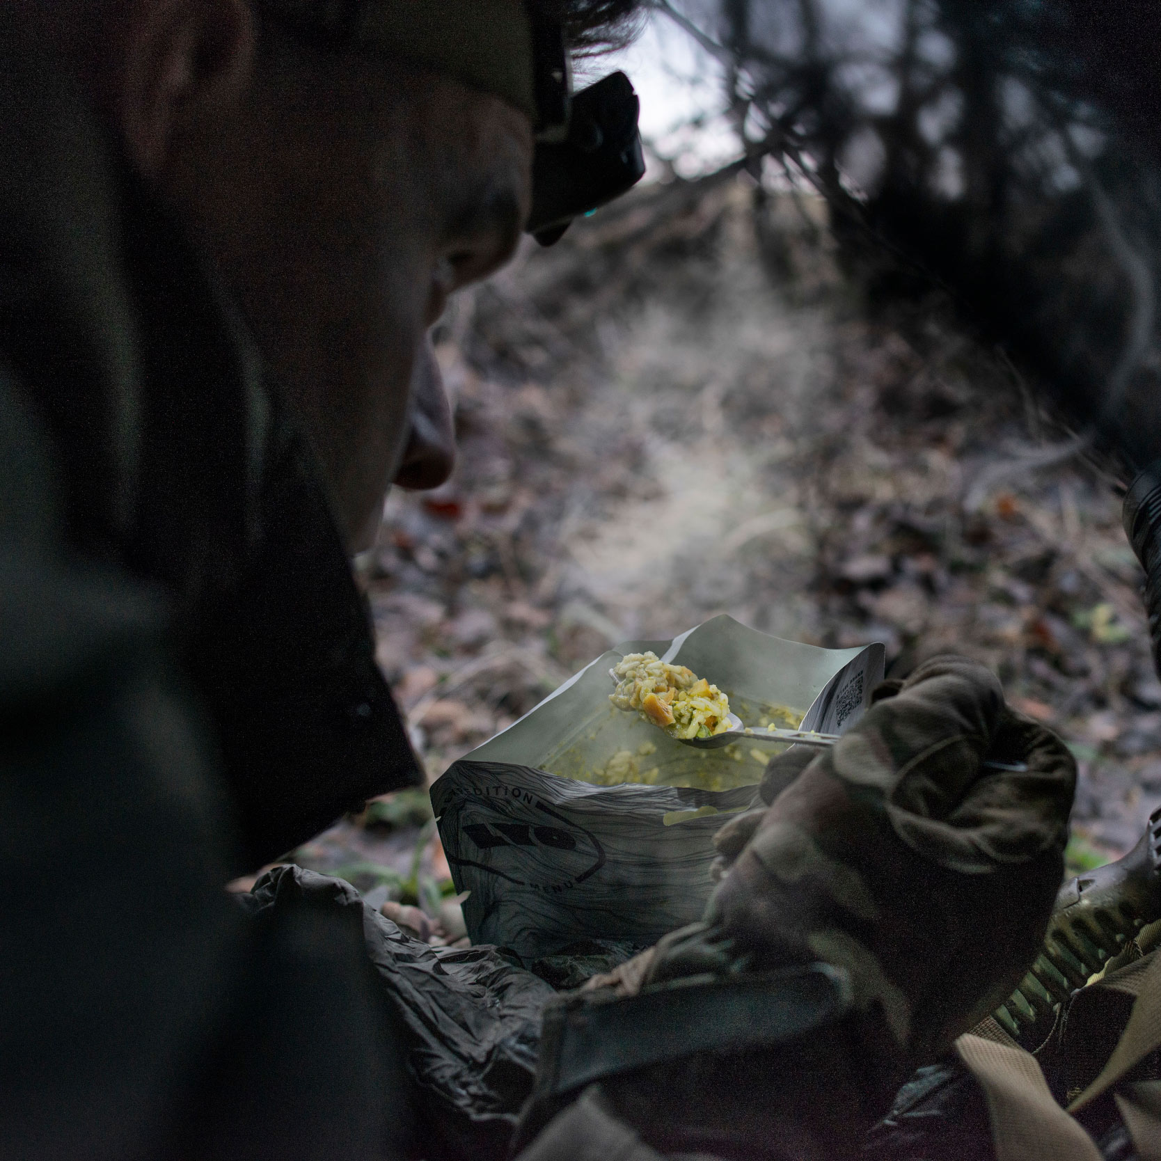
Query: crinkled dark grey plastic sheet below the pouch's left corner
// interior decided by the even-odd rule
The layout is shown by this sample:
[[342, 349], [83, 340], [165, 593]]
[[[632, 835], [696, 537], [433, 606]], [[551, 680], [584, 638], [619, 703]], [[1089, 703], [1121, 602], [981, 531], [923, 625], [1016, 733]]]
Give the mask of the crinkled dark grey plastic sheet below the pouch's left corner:
[[304, 902], [360, 908], [367, 953], [410, 1041], [419, 1110], [442, 1151], [430, 1155], [505, 1155], [532, 1091], [541, 1011], [555, 995], [549, 985], [495, 947], [431, 947], [413, 939], [348, 882], [302, 867], [267, 872], [244, 902], [253, 914]]

